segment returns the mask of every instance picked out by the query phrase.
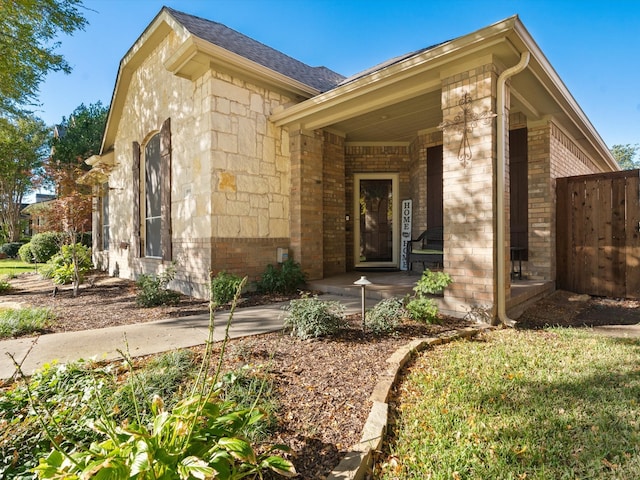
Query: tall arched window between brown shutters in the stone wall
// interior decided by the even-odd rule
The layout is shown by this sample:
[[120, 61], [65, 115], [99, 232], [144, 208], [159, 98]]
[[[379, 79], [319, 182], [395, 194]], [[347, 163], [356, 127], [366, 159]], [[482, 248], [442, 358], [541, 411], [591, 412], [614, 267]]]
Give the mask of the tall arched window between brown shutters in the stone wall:
[[162, 182], [160, 181], [160, 134], [144, 148], [144, 255], [162, 257]]

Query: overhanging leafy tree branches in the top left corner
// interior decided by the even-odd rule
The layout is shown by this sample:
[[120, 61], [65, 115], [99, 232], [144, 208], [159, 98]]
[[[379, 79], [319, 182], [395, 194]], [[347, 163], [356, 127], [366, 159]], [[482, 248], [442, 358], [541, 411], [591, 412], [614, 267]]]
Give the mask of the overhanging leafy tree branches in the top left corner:
[[82, 0], [0, 2], [0, 112], [17, 114], [34, 105], [48, 72], [69, 73], [56, 53], [59, 34], [84, 29]]

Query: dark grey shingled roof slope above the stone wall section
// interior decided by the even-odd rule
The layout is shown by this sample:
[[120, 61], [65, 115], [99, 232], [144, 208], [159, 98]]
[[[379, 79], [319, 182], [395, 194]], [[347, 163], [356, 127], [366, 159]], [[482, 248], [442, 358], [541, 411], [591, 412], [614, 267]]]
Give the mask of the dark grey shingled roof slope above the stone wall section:
[[344, 76], [326, 67], [311, 67], [221, 23], [163, 7], [191, 34], [248, 60], [293, 78], [320, 92], [338, 85]]

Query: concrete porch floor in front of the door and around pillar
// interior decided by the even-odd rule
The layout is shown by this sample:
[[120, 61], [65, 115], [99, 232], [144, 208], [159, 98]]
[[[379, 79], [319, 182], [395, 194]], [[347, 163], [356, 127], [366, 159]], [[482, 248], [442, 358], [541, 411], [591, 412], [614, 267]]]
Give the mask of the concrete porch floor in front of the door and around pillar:
[[[371, 285], [365, 289], [367, 298], [367, 308], [370, 308], [384, 298], [404, 297], [413, 294], [413, 287], [420, 279], [418, 272], [404, 271], [351, 271], [332, 275], [321, 280], [312, 280], [308, 287], [333, 295], [343, 295], [346, 297], [359, 297], [361, 287], [353, 282], [361, 276], [366, 276]], [[512, 280], [511, 295], [507, 300], [507, 313], [511, 318], [517, 319], [525, 308], [541, 298], [551, 294], [555, 290], [551, 281], [540, 280]], [[447, 311], [443, 302], [440, 303], [442, 313], [459, 316], [459, 312]]]

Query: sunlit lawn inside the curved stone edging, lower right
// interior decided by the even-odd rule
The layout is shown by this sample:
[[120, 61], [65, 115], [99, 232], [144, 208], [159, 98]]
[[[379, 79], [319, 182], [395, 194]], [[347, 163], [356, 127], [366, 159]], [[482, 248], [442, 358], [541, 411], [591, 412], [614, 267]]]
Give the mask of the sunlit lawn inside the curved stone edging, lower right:
[[640, 478], [640, 341], [501, 330], [421, 353], [375, 478]]

